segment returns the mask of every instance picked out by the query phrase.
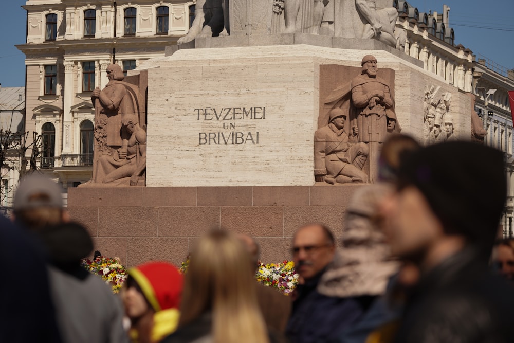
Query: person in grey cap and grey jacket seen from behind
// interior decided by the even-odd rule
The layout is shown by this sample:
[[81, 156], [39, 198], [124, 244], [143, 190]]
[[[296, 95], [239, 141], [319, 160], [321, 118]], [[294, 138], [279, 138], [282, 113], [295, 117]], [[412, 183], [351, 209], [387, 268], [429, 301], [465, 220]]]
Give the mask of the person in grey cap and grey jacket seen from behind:
[[62, 340], [126, 342], [120, 299], [80, 265], [93, 251], [93, 241], [84, 227], [67, 223], [69, 215], [61, 194], [61, 187], [48, 177], [26, 176], [14, 195], [13, 220], [38, 238], [45, 249]]

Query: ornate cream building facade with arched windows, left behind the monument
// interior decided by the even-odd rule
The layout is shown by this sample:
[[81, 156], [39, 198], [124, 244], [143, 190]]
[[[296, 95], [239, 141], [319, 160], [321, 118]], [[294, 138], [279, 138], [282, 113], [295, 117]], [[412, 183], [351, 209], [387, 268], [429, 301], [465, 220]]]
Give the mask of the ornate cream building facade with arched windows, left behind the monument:
[[26, 129], [42, 135], [41, 169], [65, 188], [91, 178], [94, 106], [106, 68], [126, 74], [189, 30], [196, 0], [29, 0]]

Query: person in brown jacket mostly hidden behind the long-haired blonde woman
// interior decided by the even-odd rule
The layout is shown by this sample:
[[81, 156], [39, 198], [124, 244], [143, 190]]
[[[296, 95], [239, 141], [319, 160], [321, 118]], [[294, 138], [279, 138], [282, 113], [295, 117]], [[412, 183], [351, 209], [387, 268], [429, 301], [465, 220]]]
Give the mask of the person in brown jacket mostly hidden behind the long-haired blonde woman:
[[[259, 244], [247, 234], [238, 234], [237, 238], [243, 242], [248, 250], [251, 257], [251, 269], [255, 273], [259, 267], [261, 254]], [[291, 298], [260, 282], [257, 282], [256, 291], [257, 301], [268, 329], [276, 330], [282, 334], [285, 333], [287, 320], [291, 314]]]

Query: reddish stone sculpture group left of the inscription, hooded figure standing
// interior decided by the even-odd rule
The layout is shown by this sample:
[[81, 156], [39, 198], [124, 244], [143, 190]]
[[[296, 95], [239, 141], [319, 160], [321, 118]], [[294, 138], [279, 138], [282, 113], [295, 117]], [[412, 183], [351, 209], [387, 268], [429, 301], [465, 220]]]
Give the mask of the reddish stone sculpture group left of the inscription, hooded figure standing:
[[136, 85], [123, 82], [118, 64], [107, 67], [107, 78], [105, 88], [97, 87], [91, 94], [95, 106], [95, 149], [89, 184], [144, 186], [144, 98]]

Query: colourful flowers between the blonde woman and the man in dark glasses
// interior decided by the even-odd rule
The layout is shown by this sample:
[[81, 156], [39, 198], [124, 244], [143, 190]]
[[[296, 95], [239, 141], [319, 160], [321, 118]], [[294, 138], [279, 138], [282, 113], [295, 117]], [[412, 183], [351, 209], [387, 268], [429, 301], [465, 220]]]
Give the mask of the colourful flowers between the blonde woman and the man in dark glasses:
[[284, 294], [291, 293], [298, 285], [300, 277], [295, 270], [295, 262], [259, 264], [256, 273], [257, 281], [270, 287], [277, 288]]

